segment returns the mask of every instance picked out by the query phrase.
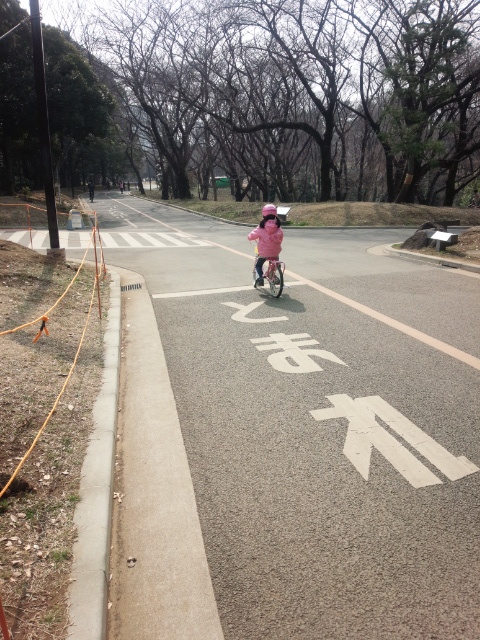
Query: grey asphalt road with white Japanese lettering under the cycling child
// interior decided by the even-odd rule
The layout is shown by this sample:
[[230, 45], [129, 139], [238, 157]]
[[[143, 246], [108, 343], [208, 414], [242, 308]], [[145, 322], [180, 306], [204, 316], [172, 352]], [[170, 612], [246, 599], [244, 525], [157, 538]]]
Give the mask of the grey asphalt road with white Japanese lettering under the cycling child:
[[273, 300], [245, 227], [96, 206], [188, 245], [106, 257], [152, 295], [225, 638], [478, 639], [478, 276], [287, 229]]

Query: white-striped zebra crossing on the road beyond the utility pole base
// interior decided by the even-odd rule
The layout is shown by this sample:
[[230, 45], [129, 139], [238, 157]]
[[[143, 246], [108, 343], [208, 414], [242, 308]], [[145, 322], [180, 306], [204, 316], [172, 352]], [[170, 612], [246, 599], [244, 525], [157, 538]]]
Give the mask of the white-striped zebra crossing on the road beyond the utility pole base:
[[[50, 247], [48, 230], [41, 231], [1, 231], [2, 240], [10, 240], [36, 251]], [[62, 249], [87, 249], [90, 245], [91, 231], [58, 232]], [[144, 232], [144, 231], [101, 231], [101, 243], [104, 249], [188, 249], [192, 247], [210, 247], [209, 242], [182, 232]], [[98, 243], [98, 238], [97, 238]], [[92, 242], [93, 246], [93, 242]]]

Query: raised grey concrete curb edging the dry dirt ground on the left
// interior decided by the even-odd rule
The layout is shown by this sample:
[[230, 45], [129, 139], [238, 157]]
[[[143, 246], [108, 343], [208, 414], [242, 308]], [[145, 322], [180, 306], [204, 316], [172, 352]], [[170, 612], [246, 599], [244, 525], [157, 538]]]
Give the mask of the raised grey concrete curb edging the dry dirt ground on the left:
[[68, 594], [71, 640], [103, 640], [107, 629], [121, 328], [120, 276], [113, 271], [110, 275], [103, 383], [93, 407], [95, 428], [82, 466], [81, 500], [74, 514], [78, 537]]

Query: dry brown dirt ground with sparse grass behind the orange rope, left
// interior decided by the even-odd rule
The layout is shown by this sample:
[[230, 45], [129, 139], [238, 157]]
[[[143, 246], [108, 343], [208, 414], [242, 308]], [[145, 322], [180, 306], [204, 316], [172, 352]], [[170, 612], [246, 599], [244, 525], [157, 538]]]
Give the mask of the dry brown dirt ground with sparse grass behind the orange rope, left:
[[[1, 224], [0, 224], [1, 226]], [[78, 265], [55, 261], [0, 240], [0, 333], [41, 318], [57, 302]], [[16, 480], [0, 499], [0, 595], [15, 640], [64, 640], [66, 595], [79, 501], [80, 470], [92, 408], [102, 379], [108, 276], [100, 285], [84, 266], [41, 321], [0, 335], [0, 491], [31, 447], [62, 391], [88, 325], [77, 364], [58, 406]]]

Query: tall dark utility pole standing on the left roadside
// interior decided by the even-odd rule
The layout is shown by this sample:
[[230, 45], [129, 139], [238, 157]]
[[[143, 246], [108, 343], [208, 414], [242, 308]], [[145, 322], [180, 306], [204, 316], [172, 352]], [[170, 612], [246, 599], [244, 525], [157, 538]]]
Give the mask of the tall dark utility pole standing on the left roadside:
[[32, 24], [33, 72], [37, 93], [38, 129], [40, 150], [42, 153], [43, 175], [45, 183], [45, 201], [47, 205], [48, 233], [50, 251], [48, 254], [64, 256], [58, 237], [57, 207], [53, 182], [52, 150], [50, 147], [50, 126], [48, 122], [47, 89], [45, 85], [45, 62], [43, 55], [42, 22], [38, 0], [30, 0], [30, 19]]

